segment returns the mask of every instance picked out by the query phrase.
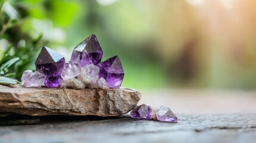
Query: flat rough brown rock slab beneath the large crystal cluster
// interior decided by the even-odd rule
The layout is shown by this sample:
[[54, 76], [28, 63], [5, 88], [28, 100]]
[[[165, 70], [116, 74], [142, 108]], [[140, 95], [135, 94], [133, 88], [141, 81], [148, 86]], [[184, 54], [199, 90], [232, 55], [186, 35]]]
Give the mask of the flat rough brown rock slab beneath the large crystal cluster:
[[0, 85], [0, 113], [30, 116], [118, 116], [140, 100], [134, 89], [23, 88]]

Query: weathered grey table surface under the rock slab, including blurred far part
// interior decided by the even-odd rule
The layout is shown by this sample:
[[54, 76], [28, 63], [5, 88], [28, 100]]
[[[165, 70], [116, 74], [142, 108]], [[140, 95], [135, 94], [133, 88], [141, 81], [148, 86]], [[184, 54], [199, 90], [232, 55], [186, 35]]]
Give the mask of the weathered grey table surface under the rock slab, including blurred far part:
[[[256, 142], [256, 92], [141, 90], [140, 103], [168, 105], [178, 123], [111, 117], [0, 118], [2, 142]], [[30, 125], [15, 125], [17, 123]], [[12, 125], [12, 126], [10, 126]]]

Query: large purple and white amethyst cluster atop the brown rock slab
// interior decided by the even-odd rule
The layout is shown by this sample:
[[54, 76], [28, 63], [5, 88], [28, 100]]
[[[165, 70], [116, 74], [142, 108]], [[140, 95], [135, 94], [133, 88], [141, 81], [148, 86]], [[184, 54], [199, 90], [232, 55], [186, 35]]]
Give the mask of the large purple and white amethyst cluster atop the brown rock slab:
[[36, 71], [26, 70], [21, 77], [26, 87], [120, 88], [124, 69], [118, 56], [101, 62], [103, 51], [94, 34], [73, 49], [65, 63], [63, 55], [43, 46], [36, 59]]

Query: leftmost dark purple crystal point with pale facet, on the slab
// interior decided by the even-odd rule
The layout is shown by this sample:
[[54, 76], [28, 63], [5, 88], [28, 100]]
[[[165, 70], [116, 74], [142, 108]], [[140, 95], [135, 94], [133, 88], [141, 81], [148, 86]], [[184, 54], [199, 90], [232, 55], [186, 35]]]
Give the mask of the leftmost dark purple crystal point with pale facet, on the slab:
[[43, 46], [36, 59], [35, 66], [36, 70], [47, 76], [45, 86], [49, 88], [60, 86], [60, 74], [63, 70], [64, 63], [65, 59], [63, 55], [58, 54], [58, 52], [53, 49]]

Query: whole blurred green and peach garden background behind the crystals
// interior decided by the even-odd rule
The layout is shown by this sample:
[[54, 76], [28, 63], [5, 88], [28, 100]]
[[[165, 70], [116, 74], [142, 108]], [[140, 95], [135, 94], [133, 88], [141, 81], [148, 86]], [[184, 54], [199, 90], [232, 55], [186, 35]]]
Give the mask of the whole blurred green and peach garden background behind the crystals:
[[122, 86], [256, 88], [254, 0], [0, 0], [0, 4], [0, 70], [8, 77], [20, 79], [24, 70], [35, 70], [33, 63], [43, 45], [68, 61], [73, 48], [95, 33], [103, 60], [121, 58]]

